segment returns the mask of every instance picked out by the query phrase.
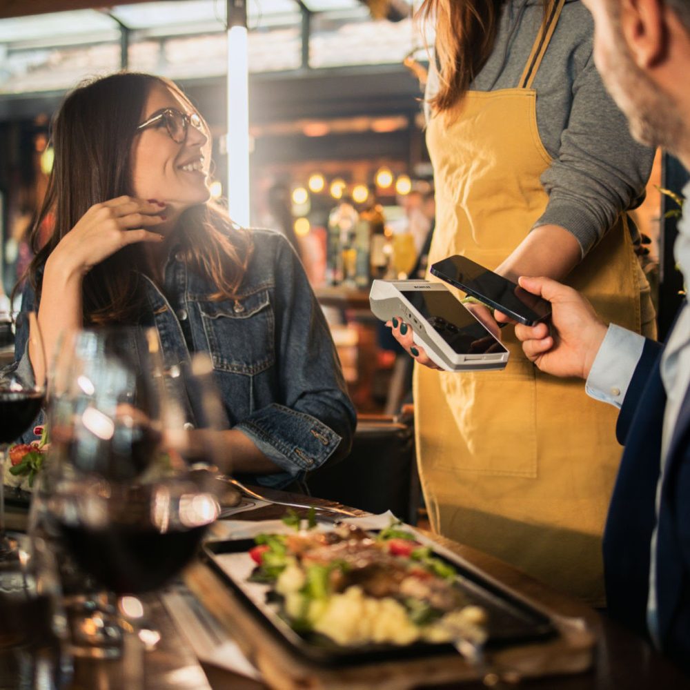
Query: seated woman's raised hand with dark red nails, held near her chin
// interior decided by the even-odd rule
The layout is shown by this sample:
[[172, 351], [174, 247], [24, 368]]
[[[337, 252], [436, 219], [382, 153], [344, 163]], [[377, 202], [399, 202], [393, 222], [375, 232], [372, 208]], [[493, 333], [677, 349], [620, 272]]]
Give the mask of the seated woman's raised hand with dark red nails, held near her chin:
[[164, 210], [165, 204], [134, 197], [94, 204], [60, 240], [48, 262], [64, 275], [83, 276], [128, 244], [161, 242], [163, 235], [146, 228], [164, 223]]

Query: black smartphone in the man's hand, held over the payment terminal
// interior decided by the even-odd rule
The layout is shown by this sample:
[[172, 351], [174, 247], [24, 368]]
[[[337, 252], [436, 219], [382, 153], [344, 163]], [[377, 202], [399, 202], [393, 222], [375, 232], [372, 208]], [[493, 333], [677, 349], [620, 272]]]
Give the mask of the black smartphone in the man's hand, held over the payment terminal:
[[456, 254], [431, 264], [431, 274], [520, 324], [533, 326], [551, 315], [551, 304], [546, 299], [528, 293], [511, 280], [467, 257]]

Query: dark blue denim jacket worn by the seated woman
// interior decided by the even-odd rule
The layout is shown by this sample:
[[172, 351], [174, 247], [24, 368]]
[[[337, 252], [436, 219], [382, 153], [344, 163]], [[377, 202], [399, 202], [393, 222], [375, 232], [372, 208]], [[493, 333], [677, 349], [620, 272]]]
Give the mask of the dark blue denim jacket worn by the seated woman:
[[[164, 290], [146, 278], [149, 311], [166, 367], [210, 355], [230, 426], [282, 472], [251, 480], [280, 487], [350, 451], [356, 415], [326, 319], [302, 264], [280, 233], [252, 230], [254, 251], [237, 299], [214, 301], [215, 286], [171, 252]], [[26, 288], [22, 310], [34, 308]], [[26, 331], [15, 353], [28, 365]]]

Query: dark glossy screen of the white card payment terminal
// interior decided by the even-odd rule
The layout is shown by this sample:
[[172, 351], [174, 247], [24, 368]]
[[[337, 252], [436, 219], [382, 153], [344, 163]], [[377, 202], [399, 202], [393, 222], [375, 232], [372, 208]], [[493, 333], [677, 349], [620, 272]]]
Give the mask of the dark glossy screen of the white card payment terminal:
[[506, 348], [448, 292], [400, 290], [458, 355], [504, 353]]

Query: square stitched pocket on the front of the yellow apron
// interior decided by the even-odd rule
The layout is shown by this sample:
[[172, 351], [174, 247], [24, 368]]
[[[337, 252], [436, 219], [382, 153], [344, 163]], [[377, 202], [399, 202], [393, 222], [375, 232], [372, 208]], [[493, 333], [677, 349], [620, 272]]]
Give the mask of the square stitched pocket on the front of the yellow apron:
[[536, 381], [531, 362], [515, 358], [504, 371], [440, 372], [439, 376], [457, 432], [457, 453], [444, 453], [435, 466], [536, 477]]

